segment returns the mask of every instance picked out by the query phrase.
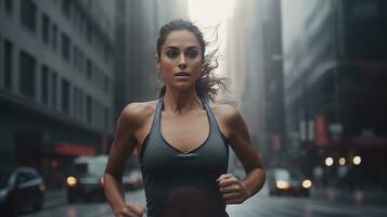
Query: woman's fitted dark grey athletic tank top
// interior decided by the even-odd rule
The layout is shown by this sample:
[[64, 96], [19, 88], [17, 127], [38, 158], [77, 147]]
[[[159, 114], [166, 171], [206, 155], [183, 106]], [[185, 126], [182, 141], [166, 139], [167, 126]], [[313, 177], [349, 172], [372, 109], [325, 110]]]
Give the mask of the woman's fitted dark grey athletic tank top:
[[[228, 170], [229, 148], [208, 103], [202, 100], [209, 135], [184, 153], [168, 143], [160, 130], [164, 98], [140, 151], [147, 217], [227, 217], [216, 179]], [[179, 126], [177, 126], [179, 127]]]

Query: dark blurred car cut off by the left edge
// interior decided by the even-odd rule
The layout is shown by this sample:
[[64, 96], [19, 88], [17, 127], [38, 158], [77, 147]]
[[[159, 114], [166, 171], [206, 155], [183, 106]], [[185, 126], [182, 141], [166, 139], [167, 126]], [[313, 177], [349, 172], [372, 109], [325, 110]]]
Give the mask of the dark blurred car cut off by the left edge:
[[46, 186], [31, 167], [0, 168], [0, 216], [15, 216], [43, 206]]

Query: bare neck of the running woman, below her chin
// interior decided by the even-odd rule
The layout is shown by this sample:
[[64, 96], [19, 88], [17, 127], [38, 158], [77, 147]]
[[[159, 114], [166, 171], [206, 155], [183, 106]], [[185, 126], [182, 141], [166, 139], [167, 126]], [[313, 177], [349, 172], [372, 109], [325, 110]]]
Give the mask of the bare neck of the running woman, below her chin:
[[166, 112], [185, 114], [202, 107], [202, 101], [195, 90], [186, 92], [166, 90], [165, 92], [164, 111]]

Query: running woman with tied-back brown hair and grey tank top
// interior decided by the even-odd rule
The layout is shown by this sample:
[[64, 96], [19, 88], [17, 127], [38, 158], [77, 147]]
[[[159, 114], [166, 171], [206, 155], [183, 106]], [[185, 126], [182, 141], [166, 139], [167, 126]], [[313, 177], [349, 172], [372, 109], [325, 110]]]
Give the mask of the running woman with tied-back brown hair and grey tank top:
[[[116, 216], [225, 217], [225, 204], [243, 203], [262, 188], [265, 171], [240, 112], [214, 103], [216, 87], [224, 81], [214, 75], [217, 58], [214, 52], [205, 55], [206, 47], [202, 31], [189, 21], [162, 27], [159, 99], [129, 104], [117, 120], [104, 175]], [[229, 144], [246, 170], [244, 180], [227, 174]], [[122, 169], [134, 150], [146, 208], [125, 202]]]

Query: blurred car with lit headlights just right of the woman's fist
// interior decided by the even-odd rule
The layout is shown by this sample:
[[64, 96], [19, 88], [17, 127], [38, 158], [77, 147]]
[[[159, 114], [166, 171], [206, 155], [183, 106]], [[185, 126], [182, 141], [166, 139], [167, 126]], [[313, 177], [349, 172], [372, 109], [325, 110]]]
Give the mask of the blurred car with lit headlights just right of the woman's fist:
[[297, 170], [274, 168], [267, 173], [270, 195], [310, 195], [311, 180]]

